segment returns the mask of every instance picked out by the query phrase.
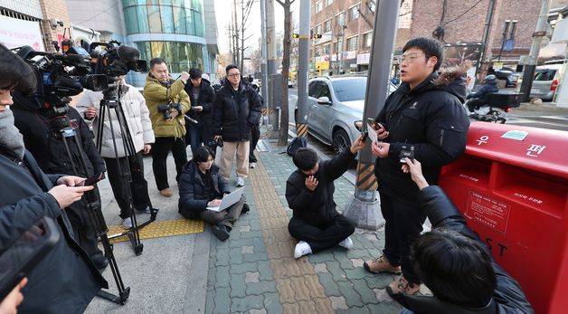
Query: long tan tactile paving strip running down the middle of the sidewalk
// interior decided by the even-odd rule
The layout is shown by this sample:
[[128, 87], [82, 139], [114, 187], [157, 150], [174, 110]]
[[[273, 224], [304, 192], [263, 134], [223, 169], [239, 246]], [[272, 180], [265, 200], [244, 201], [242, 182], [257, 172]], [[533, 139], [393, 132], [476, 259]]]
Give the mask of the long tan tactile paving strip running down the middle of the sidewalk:
[[288, 215], [260, 160], [250, 182], [284, 313], [335, 313], [313, 265], [305, 257], [294, 259], [296, 241], [288, 233]]

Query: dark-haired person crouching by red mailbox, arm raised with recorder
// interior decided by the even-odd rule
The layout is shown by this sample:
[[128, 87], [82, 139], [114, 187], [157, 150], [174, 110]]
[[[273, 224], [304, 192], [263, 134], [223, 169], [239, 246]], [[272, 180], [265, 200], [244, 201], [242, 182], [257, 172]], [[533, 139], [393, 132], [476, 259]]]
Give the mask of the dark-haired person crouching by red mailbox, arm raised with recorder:
[[[420, 188], [419, 202], [432, 223], [411, 246], [411, 262], [434, 298], [387, 291], [411, 313], [534, 313], [518, 282], [495, 262], [440, 186], [429, 186], [421, 163], [406, 158], [402, 171]], [[402, 289], [399, 289], [402, 290]]]

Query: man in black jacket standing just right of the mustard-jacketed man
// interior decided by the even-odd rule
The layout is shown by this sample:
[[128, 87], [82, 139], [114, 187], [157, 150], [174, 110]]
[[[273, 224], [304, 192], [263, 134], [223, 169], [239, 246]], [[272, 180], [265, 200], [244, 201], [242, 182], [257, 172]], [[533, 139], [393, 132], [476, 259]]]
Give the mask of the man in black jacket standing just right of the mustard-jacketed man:
[[213, 99], [215, 90], [211, 83], [201, 77], [202, 71], [197, 68], [189, 70], [189, 81], [185, 82], [185, 92], [191, 99], [192, 108], [188, 116], [197, 121], [185, 121], [185, 145], [191, 145], [192, 152], [201, 146], [208, 145], [212, 140], [211, 125], [213, 124]]

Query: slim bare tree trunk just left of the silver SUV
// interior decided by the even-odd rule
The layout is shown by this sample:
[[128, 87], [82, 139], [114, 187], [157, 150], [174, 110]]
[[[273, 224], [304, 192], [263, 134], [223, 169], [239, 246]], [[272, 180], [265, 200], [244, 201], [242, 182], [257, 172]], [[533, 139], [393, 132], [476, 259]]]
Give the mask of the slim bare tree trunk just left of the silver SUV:
[[284, 2], [284, 39], [282, 43], [282, 99], [280, 104], [280, 130], [278, 145], [288, 145], [288, 123], [289, 123], [289, 104], [288, 104], [288, 76], [290, 67], [290, 1]]

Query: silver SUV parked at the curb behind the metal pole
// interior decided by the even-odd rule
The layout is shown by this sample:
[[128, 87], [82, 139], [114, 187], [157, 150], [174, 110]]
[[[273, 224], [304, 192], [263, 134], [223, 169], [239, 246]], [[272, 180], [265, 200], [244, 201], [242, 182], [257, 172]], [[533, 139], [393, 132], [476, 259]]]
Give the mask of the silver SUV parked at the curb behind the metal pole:
[[[366, 76], [317, 77], [308, 84], [309, 134], [336, 153], [350, 147], [360, 133], [355, 124], [363, 119]], [[394, 90], [389, 84], [389, 93]]]

